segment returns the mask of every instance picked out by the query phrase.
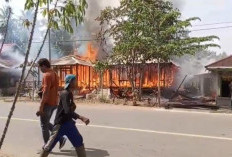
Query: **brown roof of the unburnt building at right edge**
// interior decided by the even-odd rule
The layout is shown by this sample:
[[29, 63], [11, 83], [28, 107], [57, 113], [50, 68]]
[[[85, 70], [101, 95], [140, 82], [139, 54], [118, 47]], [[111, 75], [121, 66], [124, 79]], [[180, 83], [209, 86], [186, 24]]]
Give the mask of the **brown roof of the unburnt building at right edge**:
[[232, 55], [226, 58], [223, 58], [221, 60], [218, 60], [214, 63], [211, 63], [207, 66], [205, 66], [207, 70], [228, 70], [232, 69]]

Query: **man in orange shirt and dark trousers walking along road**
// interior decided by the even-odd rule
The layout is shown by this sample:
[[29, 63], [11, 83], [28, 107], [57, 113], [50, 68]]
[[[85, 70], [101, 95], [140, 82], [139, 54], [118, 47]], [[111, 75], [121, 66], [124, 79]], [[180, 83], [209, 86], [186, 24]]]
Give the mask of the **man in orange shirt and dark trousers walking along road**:
[[[38, 61], [38, 66], [43, 73], [42, 80], [42, 100], [40, 103], [39, 111], [36, 113], [40, 116], [42, 134], [44, 144], [46, 144], [50, 137], [50, 132], [53, 129], [53, 125], [50, 123], [50, 119], [53, 111], [58, 105], [58, 76], [51, 69], [50, 62], [46, 58], [42, 58]], [[64, 146], [66, 138], [61, 138], [60, 149]]]

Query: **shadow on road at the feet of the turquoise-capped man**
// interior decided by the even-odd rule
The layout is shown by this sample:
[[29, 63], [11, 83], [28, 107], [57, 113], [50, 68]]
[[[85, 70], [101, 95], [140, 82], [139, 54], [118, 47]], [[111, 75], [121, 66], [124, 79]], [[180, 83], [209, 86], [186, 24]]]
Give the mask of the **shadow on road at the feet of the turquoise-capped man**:
[[[88, 157], [107, 157], [110, 154], [106, 150], [95, 149], [95, 148], [85, 148], [86, 156]], [[61, 150], [60, 152], [52, 152], [54, 155], [62, 156], [76, 156], [75, 150]]]

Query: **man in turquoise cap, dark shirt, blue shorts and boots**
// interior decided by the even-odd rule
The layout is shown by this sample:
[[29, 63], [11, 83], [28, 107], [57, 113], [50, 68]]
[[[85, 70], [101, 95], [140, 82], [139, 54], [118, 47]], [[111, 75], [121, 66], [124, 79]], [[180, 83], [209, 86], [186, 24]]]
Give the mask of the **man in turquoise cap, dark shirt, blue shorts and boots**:
[[49, 141], [45, 145], [40, 157], [47, 157], [59, 139], [64, 135], [68, 137], [76, 149], [77, 156], [86, 157], [83, 138], [73, 119], [80, 119], [86, 125], [89, 124], [89, 119], [74, 112], [76, 105], [73, 102], [72, 91], [75, 89], [75, 80], [75, 75], [67, 75], [65, 78], [65, 89], [60, 94], [60, 102], [55, 117], [55, 126], [53, 127]]

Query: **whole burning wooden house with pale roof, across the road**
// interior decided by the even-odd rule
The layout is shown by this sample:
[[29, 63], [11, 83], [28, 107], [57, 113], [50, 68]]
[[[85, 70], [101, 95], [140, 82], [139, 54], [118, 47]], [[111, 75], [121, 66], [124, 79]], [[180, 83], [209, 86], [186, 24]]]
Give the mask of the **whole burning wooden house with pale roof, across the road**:
[[[77, 87], [81, 92], [88, 92], [97, 89], [100, 85], [100, 76], [94, 70], [93, 64], [89, 58], [78, 55], [70, 55], [58, 60], [52, 61], [54, 70], [60, 77], [60, 86], [64, 85], [64, 78], [67, 74], [77, 75]], [[154, 89], [158, 86], [158, 64], [144, 64], [144, 69], [140, 70], [141, 64], [136, 64], [136, 87], [139, 87], [140, 75], [142, 75], [142, 88]], [[131, 69], [123, 65], [110, 65], [109, 69], [103, 74], [104, 88], [130, 88], [128, 73]], [[172, 62], [160, 64], [161, 87], [171, 87], [174, 84], [175, 75], [178, 67]]]

